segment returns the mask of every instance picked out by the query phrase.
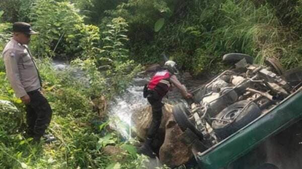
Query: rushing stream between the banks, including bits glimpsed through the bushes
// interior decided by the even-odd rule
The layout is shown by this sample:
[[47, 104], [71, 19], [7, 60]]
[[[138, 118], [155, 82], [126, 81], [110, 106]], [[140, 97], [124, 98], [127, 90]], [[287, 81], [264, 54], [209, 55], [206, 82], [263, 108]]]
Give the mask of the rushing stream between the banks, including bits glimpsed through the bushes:
[[[71, 68], [69, 64], [62, 61], [53, 61], [53, 67], [57, 71], [62, 71], [66, 68]], [[74, 70], [72, 68], [73, 75], [77, 78], [80, 78], [85, 81], [88, 79], [84, 76], [84, 73], [81, 70]], [[181, 73], [177, 75], [179, 81], [183, 83], [186, 88], [190, 91], [205, 82], [205, 80], [196, 80], [189, 73]], [[121, 95], [117, 95], [113, 98], [113, 100], [108, 105], [108, 112], [110, 126], [118, 131], [125, 139], [131, 138], [131, 114], [132, 112], [141, 110], [142, 107], [147, 106], [148, 101], [143, 98], [142, 90], [145, 83], [148, 83], [150, 75], [140, 75], [136, 76], [129, 87], [123, 92]], [[182, 98], [178, 89], [173, 89], [168, 93], [168, 98], [165, 97], [163, 99], [165, 103], [176, 104], [179, 102], [186, 101]], [[160, 160], [149, 159], [148, 162], [145, 163], [146, 168], [156, 168], [162, 166]]]

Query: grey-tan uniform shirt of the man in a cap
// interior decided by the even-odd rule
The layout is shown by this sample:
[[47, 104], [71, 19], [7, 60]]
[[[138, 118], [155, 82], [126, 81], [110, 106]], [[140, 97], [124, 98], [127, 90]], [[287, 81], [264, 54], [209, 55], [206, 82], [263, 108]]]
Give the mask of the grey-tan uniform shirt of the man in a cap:
[[3, 51], [7, 77], [17, 97], [41, 88], [39, 73], [26, 45], [14, 39]]

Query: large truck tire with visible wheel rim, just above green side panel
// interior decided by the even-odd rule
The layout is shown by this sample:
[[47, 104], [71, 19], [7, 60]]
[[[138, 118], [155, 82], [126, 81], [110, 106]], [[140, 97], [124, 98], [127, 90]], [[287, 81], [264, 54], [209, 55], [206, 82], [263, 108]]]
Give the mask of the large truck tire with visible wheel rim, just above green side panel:
[[[243, 110], [245, 106], [247, 107]], [[257, 104], [242, 100], [226, 107], [215, 117], [216, 119], [230, 120], [230, 122], [214, 120], [212, 128], [218, 138], [224, 139], [249, 124], [260, 114], [261, 110]]]

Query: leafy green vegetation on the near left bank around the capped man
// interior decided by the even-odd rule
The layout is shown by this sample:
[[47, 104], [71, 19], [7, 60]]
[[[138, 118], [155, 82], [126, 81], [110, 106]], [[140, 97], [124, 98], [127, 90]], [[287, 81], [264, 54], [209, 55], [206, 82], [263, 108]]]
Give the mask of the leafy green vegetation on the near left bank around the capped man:
[[[140, 71], [140, 66], [129, 60], [128, 51], [123, 47], [127, 40], [123, 34], [127, 31], [127, 23], [122, 18], [112, 19], [107, 29], [100, 32], [98, 27], [86, 25], [83, 16], [68, 2], [30, 2], [32, 4], [21, 5], [20, 9], [31, 8], [27, 20], [40, 33], [32, 38], [30, 47], [40, 58], [37, 65], [43, 79], [44, 94], [53, 109], [48, 132], [58, 140], [48, 145], [43, 142], [33, 144], [30, 138], [25, 137], [24, 105], [10, 87], [1, 59], [1, 167], [140, 167], [145, 158], [136, 154], [129, 141], [121, 142], [119, 133], [108, 127], [109, 119], [99, 116], [106, 110], [96, 112], [95, 106], [98, 105], [94, 102], [100, 98], [109, 101], [114, 94], [125, 89]], [[11, 27], [9, 23], [0, 24], [1, 51], [11, 37]], [[101, 34], [106, 35], [103, 45]], [[71, 67], [56, 71], [51, 57], [64, 57], [62, 59], [71, 61]], [[104, 66], [107, 66], [105, 70], [102, 68]], [[83, 78], [79, 78], [77, 72]], [[122, 153], [112, 156], [105, 154], [103, 148], [108, 144], [121, 149]], [[120, 162], [116, 162], [116, 159], [120, 159]]]

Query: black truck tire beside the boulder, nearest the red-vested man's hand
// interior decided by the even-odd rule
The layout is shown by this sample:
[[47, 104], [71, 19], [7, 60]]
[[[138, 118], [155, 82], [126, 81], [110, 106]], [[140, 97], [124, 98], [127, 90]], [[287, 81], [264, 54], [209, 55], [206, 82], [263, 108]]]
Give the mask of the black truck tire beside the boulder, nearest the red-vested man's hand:
[[189, 128], [193, 131], [200, 139], [203, 138], [203, 134], [198, 131], [194, 124], [189, 120], [188, 114], [190, 113], [189, 110], [186, 108], [184, 103], [178, 103], [173, 106], [172, 109], [175, 121], [177, 122], [178, 126], [182, 131], [186, 131]]

